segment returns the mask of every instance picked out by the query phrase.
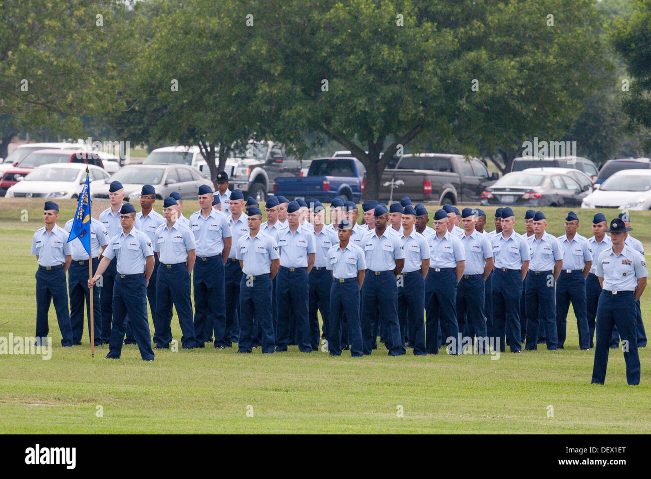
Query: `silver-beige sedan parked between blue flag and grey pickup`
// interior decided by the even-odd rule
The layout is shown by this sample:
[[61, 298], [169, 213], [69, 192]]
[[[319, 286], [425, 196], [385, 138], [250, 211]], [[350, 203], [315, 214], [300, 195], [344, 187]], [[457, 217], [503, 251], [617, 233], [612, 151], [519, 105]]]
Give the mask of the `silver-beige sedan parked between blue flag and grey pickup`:
[[212, 181], [191, 166], [187, 165], [127, 165], [106, 180], [90, 184], [90, 196], [108, 198], [111, 182], [119, 181], [124, 187], [127, 201], [140, 197], [143, 184], [151, 184], [156, 198], [163, 199], [173, 191], [184, 199], [197, 199], [199, 186]]

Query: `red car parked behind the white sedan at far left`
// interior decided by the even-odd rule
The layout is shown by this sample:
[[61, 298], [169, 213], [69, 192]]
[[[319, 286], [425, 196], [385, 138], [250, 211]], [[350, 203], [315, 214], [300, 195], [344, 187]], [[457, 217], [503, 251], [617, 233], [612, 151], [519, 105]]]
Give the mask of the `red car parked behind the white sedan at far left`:
[[10, 167], [3, 173], [0, 179], [0, 196], [5, 196], [10, 186], [16, 184], [36, 167], [50, 163], [83, 163], [104, 169], [102, 158], [96, 153], [79, 149], [36, 150], [27, 154], [17, 166]]

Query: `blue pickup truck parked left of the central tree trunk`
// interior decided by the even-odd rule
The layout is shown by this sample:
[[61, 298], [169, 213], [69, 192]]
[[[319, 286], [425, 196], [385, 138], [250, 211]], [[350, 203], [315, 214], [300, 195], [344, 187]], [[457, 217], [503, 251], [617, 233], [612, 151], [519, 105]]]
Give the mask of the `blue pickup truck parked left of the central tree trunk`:
[[359, 203], [365, 171], [357, 158], [318, 158], [312, 160], [305, 177], [277, 177], [273, 194], [289, 200], [316, 198], [328, 202], [343, 196]]

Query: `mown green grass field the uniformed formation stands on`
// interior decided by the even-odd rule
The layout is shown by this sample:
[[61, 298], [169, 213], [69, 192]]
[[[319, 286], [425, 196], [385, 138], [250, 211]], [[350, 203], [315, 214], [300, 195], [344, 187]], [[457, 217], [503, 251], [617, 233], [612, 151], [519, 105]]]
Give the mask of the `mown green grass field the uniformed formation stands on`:
[[[75, 202], [60, 201], [59, 225]], [[162, 207], [162, 205], [156, 205]], [[94, 205], [94, 216], [102, 207]], [[188, 202], [184, 213], [198, 209]], [[436, 209], [431, 207], [430, 211]], [[523, 231], [524, 209], [514, 209]], [[494, 210], [487, 210], [491, 214]], [[26, 213], [26, 216], [25, 216]], [[562, 234], [566, 210], [546, 209]], [[592, 214], [577, 210], [590, 237]], [[607, 218], [613, 211], [607, 212]], [[431, 219], [432, 215], [430, 215]], [[23, 220], [27, 221], [21, 221]], [[651, 248], [651, 214], [632, 212], [633, 235]], [[0, 200], [0, 336], [35, 332], [33, 232], [42, 201]], [[493, 229], [492, 225], [488, 229]], [[651, 291], [642, 298], [651, 330]], [[213, 348], [156, 353], [136, 346], [122, 359], [90, 357], [84, 345], [60, 347], [54, 308], [51, 360], [0, 355], [0, 433], [649, 433], [651, 347], [640, 350], [641, 385], [626, 385], [621, 351], [612, 351], [605, 386], [591, 386], [594, 350], [580, 351], [574, 315], [562, 351], [491, 356], [237, 355]], [[180, 328], [173, 319], [173, 334]], [[153, 331], [153, 327], [152, 327]], [[508, 351], [508, 349], [507, 349]], [[411, 350], [408, 350], [410, 353]]]

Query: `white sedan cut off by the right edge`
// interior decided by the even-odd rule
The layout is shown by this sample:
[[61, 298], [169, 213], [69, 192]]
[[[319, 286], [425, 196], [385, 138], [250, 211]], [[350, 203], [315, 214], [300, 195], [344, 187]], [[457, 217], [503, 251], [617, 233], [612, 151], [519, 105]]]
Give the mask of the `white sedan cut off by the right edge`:
[[597, 190], [583, 198], [581, 208], [651, 208], [651, 169], [616, 171]]

